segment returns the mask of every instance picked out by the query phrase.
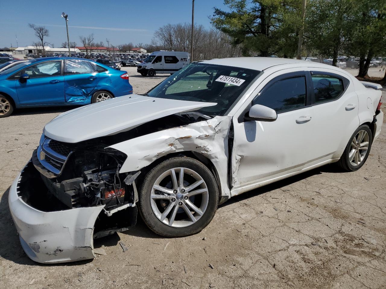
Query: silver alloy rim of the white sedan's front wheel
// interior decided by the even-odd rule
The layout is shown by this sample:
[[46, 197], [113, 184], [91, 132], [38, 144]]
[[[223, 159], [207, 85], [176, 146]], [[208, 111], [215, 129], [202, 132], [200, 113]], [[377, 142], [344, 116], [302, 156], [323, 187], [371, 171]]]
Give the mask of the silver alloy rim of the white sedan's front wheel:
[[188, 168], [172, 168], [161, 174], [151, 189], [151, 208], [164, 224], [188, 227], [208, 207], [209, 193], [203, 178]]

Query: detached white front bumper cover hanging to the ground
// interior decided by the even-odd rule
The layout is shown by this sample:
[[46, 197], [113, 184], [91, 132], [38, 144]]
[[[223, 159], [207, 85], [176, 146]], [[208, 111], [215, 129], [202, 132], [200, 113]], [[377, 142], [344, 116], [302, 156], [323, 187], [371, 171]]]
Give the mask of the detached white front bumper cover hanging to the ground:
[[40, 181], [29, 161], [9, 191], [10, 212], [25, 253], [39, 263], [95, 258], [93, 230], [104, 206], [47, 211], [36, 205], [39, 198], [44, 201], [45, 197]]

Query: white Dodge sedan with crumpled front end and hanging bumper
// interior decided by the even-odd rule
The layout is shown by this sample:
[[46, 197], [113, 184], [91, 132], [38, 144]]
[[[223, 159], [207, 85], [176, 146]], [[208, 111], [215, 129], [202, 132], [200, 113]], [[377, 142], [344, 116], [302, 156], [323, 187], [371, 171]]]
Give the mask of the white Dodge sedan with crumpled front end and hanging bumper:
[[157, 234], [187, 236], [240, 193], [334, 162], [358, 170], [381, 131], [379, 88], [316, 62], [214, 59], [63, 113], [10, 188], [21, 245], [41, 263], [91, 259], [137, 208]]

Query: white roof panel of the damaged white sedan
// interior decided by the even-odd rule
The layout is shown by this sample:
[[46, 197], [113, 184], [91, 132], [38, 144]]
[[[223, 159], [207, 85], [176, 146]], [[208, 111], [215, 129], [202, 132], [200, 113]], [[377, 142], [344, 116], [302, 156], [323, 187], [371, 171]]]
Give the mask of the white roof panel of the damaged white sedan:
[[[278, 58], [278, 57], [232, 57], [232, 58], [204, 60], [200, 63], [226, 65], [226, 66], [241, 67], [241, 68], [248, 68], [248, 69], [263, 71], [269, 67], [279, 66], [284, 64], [297, 63], [297, 64], [300, 64], [300, 66], [303, 66], [305, 64], [309, 65], [310, 61], [291, 59], [291, 58]], [[315, 64], [315, 66], [323, 66], [323, 67], [327, 65], [327, 64], [320, 64], [318, 62], [312, 62], [312, 64]]]

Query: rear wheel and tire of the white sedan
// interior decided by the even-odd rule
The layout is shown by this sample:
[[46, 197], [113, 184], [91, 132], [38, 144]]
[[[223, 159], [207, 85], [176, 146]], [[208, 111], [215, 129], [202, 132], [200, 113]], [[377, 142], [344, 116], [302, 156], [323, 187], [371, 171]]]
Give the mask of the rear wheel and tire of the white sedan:
[[338, 161], [338, 165], [345, 171], [359, 170], [369, 156], [371, 145], [371, 129], [366, 124], [363, 124], [352, 134], [343, 155]]

